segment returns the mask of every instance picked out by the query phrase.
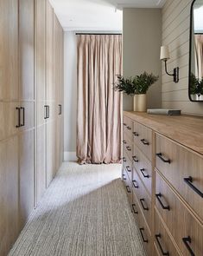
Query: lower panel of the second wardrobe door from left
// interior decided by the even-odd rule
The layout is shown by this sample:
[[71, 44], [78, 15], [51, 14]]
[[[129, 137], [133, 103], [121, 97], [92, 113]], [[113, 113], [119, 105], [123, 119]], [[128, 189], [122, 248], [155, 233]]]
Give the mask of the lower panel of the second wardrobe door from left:
[[34, 209], [34, 129], [19, 135], [21, 226]]

